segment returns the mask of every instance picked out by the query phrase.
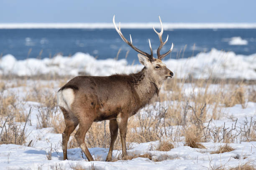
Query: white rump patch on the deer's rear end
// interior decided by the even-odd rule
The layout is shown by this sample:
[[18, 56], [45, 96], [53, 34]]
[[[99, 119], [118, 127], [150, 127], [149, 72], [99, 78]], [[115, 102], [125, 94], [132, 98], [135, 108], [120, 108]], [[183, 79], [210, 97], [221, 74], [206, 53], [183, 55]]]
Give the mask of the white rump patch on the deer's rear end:
[[57, 92], [58, 105], [66, 110], [71, 110], [71, 105], [74, 102], [74, 91], [71, 88], [60, 90]]

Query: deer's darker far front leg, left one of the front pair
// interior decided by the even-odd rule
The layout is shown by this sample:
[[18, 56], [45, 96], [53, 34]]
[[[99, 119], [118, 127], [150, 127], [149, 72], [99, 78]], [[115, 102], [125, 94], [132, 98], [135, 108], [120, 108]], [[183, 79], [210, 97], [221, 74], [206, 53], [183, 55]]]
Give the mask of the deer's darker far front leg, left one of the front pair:
[[114, 143], [118, 135], [118, 123], [116, 120], [110, 120], [109, 121], [109, 129], [110, 129], [110, 137], [111, 137], [111, 142], [110, 142], [110, 147], [108, 151], [108, 156], [106, 161], [111, 161], [112, 160], [112, 152], [114, 148]]

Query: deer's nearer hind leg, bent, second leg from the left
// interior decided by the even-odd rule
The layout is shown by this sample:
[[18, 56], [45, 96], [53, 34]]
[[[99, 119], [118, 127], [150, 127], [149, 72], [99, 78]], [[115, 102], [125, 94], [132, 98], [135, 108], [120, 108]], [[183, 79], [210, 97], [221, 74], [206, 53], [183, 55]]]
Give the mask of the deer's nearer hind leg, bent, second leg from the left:
[[79, 128], [77, 130], [77, 133], [75, 134], [75, 138], [77, 140], [77, 143], [79, 144], [80, 148], [84, 152], [85, 156], [89, 161], [93, 161], [92, 155], [90, 154], [87, 146], [84, 143], [84, 138], [87, 133], [87, 131], [90, 129], [92, 125], [91, 120], [84, 121], [83, 123], [79, 124]]

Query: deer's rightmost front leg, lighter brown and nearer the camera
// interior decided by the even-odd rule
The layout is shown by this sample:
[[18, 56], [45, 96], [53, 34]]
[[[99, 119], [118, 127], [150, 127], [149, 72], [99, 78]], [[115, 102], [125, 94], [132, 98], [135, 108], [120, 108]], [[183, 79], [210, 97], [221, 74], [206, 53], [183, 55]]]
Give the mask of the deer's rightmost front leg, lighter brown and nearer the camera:
[[127, 155], [126, 143], [125, 143], [126, 132], [127, 132], [127, 121], [128, 121], [128, 117], [117, 118], [118, 128], [119, 128], [121, 143], [122, 143], [122, 157], [125, 157]]

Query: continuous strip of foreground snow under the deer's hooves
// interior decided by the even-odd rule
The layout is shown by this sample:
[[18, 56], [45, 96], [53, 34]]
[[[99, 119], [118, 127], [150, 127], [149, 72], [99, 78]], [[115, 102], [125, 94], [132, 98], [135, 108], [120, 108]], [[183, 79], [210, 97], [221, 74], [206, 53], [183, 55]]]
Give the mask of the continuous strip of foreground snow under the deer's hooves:
[[[256, 142], [230, 144], [231, 147], [236, 148], [229, 153], [210, 154], [220, 145], [216, 143], [203, 143], [207, 149], [195, 149], [188, 146], [179, 146], [168, 152], [161, 151], [146, 151], [153, 154], [155, 157], [166, 155], [172, 157], [172, 160], [163, 160], [161, 162], [154, 162], [148, 158], [135, 158], [132, 160], [119, 160], [116, 162], [94, 161], [95, 169], [107, 170], [207, 170], [211, 167], [226, 167], [238, 166], [238, 162], [246, 163], [248, 160], [256, 159]], [[142, 144], [144, 145], [144, 144]], [[139, 147], [139, 145], [138, 145]], [[90, 153], [96, 156], [102, 156], [105, 159], [108, 149], [105, 148], [89, 148]], [[116, 154], [114, 150], [113, 155]], [[128, 150], [128, 153], [141, 153], [142, 150]], [[79, 148], [68, 150], [70, 160], [63, 159], [61, 152], [54, 152], [52, 160], [46, 160], [46, 151], [43, 149], [36, 149], [32, 147], [24, 147], [20, 145], [1, 145], [0, 146], [0, 164], [1, 167], [7, 170], [34, 170], [41, 167], [41, 170], [53, 169], [61, 167], [62, 170], [72, 170], [72, 167], [81, 165], [84, 168], [90, 168], [91, 162], [87, 162], [82, 158]], [[245, 158], [246, 159], [243, 159]], [[237, 159], [238, 158], [238, 159]], [[240, 159], [239, 159], [240, 158]], [[221, 161], [220, 161], [221, 160]]]

